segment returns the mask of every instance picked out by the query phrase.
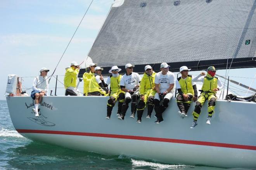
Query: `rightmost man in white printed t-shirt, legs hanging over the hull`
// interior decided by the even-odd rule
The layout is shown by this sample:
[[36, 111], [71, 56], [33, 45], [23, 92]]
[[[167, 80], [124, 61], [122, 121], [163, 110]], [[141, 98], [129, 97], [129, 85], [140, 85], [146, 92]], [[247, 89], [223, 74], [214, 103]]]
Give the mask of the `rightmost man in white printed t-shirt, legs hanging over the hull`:
[[[168, 103], [173, 98], [173, 87], [175, 83], [175, 76], [169, 71], [170, 65], [162, 63], [160, 66], [161, 72], [156, 74], [155, 85], [156, 95], [154, 98], [156, 118], [155, 124], [159, 124], [164, 121], [163, 112], [168, 107]], [[163, 104], [160, 106], [160, 101], [163, 100]]]

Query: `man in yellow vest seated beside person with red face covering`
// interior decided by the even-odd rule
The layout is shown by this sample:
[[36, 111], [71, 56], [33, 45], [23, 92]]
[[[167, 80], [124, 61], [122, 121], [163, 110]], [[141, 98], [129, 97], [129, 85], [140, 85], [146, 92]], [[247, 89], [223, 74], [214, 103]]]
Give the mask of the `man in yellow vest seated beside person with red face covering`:
[[176, 98], [178, 108], [180, 109], [180, 117], [187, 117], [187, 112], [190, 107], [190, 103], [197, 100], [197, 88], [195, 82], [192, 81], [193, 77], [189, 75], [187, 66], [180, 67], [181, 76], [176, 80], [176, 89], [178, 90], [178, 96]]

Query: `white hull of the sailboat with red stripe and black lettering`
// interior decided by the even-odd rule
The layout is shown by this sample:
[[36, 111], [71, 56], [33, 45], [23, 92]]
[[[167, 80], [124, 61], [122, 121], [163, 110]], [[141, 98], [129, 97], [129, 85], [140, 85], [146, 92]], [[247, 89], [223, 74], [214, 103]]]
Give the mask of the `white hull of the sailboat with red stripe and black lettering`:
[[106, 120], [106, 97], [45, 96], [40, 120], [31, 113], [32, 102], [30, 97], [7, 97], [15, 129], [31, 140], [166, 163], [256, 168], [256, 103], [218, 100], [211, 125], [206, 124], [205, 104], [198, 125], [190, 129], [194, 104], [189, 117], [181, 119], [175, 99], [157, 125], [154, 112], [145, 118], [146, 110], [141, 124], [130, 118], [130, 108], [125, 120], [118, 120], [117, 106]]

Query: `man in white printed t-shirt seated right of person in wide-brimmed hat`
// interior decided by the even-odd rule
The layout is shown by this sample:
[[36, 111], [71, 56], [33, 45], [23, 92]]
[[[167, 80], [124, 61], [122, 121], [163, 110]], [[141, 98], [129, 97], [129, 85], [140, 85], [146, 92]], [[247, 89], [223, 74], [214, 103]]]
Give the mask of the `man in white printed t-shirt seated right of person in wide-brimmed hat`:
[[138, 98], [140, 97], [140, 75], [133, 72], [135, 65], [126, 64], [126, 74], [123, 75], [120, 81], [121, 90], [125, 92], [125, 101], [121, 108], [121, 115], [118, 117], [119, 120], [124, 120], [125, 113], [131, 102], [131, 118], [135, 117], [135, 112], [137, 109]]

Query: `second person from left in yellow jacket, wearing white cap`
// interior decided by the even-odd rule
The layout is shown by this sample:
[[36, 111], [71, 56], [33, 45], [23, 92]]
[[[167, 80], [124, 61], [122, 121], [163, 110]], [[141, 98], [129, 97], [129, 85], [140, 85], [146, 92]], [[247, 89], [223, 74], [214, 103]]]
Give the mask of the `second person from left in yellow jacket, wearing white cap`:
[[90, 71], [89, 72], [85, 72], [83, 74], [83, 95], [84, 96], [88, 95], [89, 84], [90, 84], [90, 81], [91, 81], [92, 77], [94, 76], [95, 67], [97, 67], [97, 64], [91, 63], [89, 65], [89, 70]]

